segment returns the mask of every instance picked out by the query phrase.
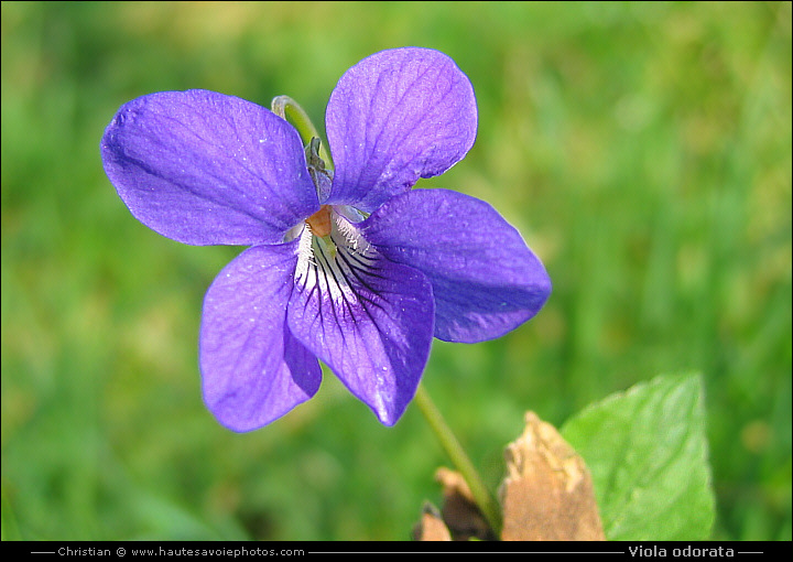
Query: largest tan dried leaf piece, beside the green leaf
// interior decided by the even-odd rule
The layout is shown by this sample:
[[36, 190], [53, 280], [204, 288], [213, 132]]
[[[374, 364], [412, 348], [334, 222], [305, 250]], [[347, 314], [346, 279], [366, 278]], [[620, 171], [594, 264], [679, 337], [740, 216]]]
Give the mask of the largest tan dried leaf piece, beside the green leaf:
[[606, 540], [584, 460], [534, 412], [525, 422], [506, 452], [501, 540]]

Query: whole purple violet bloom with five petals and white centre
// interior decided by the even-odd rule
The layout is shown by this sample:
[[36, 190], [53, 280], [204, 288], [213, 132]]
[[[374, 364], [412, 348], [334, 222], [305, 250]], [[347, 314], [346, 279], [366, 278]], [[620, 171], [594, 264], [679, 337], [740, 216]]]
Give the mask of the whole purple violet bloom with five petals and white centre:
[[428, 48], [348, 69], [326, 111], [335, 170], [250, 101], [163, 91], [122, 106], [105, 171], [132, 215], [191, 245], [250, 246], [204, 300], [204, 400], [233, 431], [312, 398], [322, 359], [385, 425], [413, 398], [432, 338], [475, 343], [534, 316], [551, 281], [487, 203], [411, 191], [474, 144], [468, 77]]

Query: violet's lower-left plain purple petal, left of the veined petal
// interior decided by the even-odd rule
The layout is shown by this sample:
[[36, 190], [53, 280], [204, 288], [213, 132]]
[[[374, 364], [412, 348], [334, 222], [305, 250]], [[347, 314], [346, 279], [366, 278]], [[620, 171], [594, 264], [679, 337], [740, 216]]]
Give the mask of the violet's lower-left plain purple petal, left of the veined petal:
[[296, 241], [249, 248], [204, 299], [204, 401], [220, 423], [250, 431], [314, 396], [322, 371], [286, 327]]

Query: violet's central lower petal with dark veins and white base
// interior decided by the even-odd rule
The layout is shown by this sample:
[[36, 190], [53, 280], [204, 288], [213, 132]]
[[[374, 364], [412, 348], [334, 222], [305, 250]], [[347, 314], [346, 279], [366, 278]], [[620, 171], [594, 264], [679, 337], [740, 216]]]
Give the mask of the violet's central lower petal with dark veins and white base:
[[335, 220], [335, 251], [304, 253], [311, 239], [303, 238], [289, 326], [380, 422], [392, 425], [430, 355], [432, 288], [420, 271], [384, 259], [345, 219]]

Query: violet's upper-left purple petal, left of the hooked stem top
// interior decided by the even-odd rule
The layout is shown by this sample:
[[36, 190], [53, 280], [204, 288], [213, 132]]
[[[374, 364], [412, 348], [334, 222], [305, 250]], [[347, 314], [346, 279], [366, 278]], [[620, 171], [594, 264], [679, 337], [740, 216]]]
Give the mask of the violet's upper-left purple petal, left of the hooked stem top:
[[215, 91], [126, 104], [105, 131], [101, 156], [132, 215], [185, 244], [280, 242], [318, 208], [294, 127]]

